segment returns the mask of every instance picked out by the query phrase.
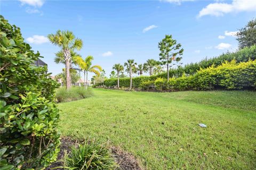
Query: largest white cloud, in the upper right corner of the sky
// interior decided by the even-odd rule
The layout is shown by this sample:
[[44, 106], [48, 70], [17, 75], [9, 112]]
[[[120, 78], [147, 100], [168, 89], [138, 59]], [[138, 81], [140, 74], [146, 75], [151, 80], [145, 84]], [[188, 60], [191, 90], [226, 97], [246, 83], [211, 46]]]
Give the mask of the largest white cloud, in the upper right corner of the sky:
[[230, 12], [255, 11], [256, 1], [254, 0], [233, 0], [231, 4], [212, 3], [204, 7], [198, 14], [198, 17], [204, 15], [223, 16]]

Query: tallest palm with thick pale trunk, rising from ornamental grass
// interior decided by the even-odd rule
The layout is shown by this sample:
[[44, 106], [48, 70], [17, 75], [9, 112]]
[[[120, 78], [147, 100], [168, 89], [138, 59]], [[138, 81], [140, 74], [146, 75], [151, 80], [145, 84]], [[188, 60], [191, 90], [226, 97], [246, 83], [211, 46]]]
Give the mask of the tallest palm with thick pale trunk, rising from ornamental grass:
[[57, 45], [61, 48], [60, 53], [63, 54], [66, 66], [66, 88], [70, 89], [71, 80], [70, 80], [70, 61], [71, 61], [71, 52], [74, 50], [80, 50], [83, 46], [83, 41], [79, 38], [75, 38], [73, 32], [71, 31], [60, 31], [58, 30], [55, 35], [48, 35], [49, 40], [53, 45]]

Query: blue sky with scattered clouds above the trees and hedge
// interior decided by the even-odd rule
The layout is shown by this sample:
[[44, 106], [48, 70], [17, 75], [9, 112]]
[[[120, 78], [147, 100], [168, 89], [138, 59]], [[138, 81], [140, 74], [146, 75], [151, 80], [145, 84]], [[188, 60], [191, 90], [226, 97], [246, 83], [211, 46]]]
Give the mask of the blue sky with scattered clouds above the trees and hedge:
[[[256, 17], [256, 1], [1, 1], [1, 14], [21, 28], [53, 75], [59, 48], [45, 37], [58, 29], [83, 40], [78, 53], [94, 56], [107, 75], [115, 63], [158, 60], [158, 42], [171, 34], [184, 48], [182, 63], [237, 49], [237, 29]], [[226, 32], [225, 32], [226, 31]], [[92, 74], [90, 74], [90, 77]]]

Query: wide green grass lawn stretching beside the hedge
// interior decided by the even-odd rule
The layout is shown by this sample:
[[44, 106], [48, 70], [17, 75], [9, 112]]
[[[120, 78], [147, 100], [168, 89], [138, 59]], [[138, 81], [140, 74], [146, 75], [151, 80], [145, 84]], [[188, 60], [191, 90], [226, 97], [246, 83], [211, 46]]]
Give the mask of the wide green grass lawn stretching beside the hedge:
[[109, 140], [147, 169], [256, 168], [256, 92], [93, 91], [59, 104], [63, 136]]

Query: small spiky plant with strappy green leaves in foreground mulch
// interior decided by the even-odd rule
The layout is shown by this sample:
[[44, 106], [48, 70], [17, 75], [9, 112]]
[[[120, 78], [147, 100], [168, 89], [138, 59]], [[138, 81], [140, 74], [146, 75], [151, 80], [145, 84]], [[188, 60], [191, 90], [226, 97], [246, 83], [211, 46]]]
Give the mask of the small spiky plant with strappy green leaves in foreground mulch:
[[106, 145], [86, 141], [73, 147], [64, 158], [65, 169], [116, 169], [118, 166]]

